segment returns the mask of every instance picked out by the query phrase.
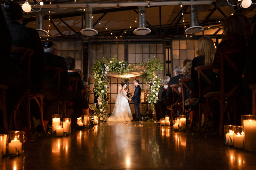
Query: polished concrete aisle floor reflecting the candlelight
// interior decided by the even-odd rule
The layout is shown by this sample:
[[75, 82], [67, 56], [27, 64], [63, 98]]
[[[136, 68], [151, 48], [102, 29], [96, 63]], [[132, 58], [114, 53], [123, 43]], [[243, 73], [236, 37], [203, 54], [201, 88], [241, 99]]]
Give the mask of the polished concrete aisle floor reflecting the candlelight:
[[153, 122], [104, 122], [26, 143], [25, 153], [4, 158], [0, 169], [256, 169], [256, 152], [187, 135]]

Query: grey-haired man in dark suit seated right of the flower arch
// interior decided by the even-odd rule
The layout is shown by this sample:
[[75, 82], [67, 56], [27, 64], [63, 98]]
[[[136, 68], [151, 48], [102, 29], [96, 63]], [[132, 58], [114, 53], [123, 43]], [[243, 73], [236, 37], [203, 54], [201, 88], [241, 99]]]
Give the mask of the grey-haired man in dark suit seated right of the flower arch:
[[[175, 73], [175, 76], [170, 78], [170, 81], [168, 83], [168, 88], [166, 92], [167, 98], [159, 101], [158, 102], [159, 104], [156, 105], [156, 115], [159, 115], [158, 117], [156, 117], [157, 121], [165, 117], [166, 107], [173, 105], [173, 103], [175, 103], [180, 97], [176, 92], [172, 93], [171, 85], [179, 83], [180, 77], [183, 76], [182, 67], [177, 65], [174, 69], [174, 73]], [[178, 91], [178, 87], [176, 87], [175, 89]], [[174, 95], [175, 101], [173, 101], [172, 94]]]

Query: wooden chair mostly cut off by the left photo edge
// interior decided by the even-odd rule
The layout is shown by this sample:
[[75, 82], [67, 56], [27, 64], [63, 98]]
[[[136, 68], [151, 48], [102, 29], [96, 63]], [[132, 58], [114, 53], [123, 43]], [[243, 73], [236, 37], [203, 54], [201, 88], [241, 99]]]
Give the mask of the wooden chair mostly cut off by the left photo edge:
[[6, 110], [6, 90], [7, 85], [0, 84], [0, 110], [2, 110], [4, 133], [8, 134], [7, 110]]

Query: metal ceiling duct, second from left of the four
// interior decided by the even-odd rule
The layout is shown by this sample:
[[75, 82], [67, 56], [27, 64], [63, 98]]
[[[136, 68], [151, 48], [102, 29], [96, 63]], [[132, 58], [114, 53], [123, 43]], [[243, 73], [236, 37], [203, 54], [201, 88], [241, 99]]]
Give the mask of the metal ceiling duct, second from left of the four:
[[85, 16], [85, 28], [80, 31], [81, 34], [87, 35], [87, 36], [93, 36], [98, 33], [97, 30], [92, 29], [92, 8], [87, 7], [86, 8], [86, 16]]

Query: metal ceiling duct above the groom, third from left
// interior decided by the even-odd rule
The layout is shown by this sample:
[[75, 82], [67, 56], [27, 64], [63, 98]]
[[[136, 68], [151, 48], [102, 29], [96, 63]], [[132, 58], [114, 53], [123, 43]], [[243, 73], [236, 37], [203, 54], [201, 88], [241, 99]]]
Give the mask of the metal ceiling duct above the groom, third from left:
[[151, 32], [149, 28], [146, 28], [146, 14], [145, 6], [138, 6], [138, 28], [133, 31], [136, 35], [146, 35]]

